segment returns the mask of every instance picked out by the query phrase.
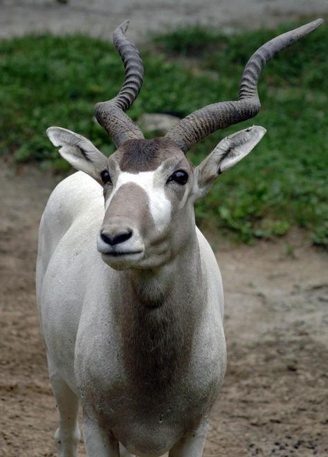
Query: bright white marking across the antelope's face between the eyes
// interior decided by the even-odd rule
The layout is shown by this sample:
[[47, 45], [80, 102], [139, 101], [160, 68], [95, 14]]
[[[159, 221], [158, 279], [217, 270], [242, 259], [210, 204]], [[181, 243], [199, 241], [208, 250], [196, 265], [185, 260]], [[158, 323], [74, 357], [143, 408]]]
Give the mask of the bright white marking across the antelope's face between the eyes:
[[168, 223], [170, 223], [172, 205], [170, 200], [168, 200], [165, 195], [163, 185], [159, 183], [156, 185], [156, 175], [158, 175], [158, 171], [160, 174], [160, 169], [161, 167], [158, 167], [158, 169], [154, 171], [140, 171], [138, 174], [121, 171], [118, 175], [116, 185], [105, 203], [105, 211], [107, 211], [113, 196], [116, 192], [118, 192], [118, 189], [120, 189], [122, 185], [134, 183], [146, 192], [149, 198], [150, 214], [152, 214], [152, 218], [154, 219], [155, 227], [157, 230], [161, 231]]

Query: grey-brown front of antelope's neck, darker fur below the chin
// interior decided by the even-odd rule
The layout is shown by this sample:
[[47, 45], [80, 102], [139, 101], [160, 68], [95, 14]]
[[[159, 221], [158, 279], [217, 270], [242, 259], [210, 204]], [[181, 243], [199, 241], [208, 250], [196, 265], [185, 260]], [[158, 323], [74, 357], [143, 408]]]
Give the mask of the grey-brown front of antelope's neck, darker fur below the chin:
[[192, 341], [206, 302], [199, 245], [160, 271], [120, 273], [114, 315], [131, 381], [127, 389], [141, 403], [149, 395], [165, 402], [168, 387], [176, 385], [190, 366]]

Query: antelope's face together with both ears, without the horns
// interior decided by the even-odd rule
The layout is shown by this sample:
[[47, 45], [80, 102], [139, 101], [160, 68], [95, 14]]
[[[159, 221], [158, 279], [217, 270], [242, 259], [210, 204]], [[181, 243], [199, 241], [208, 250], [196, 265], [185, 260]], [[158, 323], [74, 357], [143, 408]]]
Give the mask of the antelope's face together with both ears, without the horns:
[[109, 158], [86, 138], [51, 127], [48, 136], [74, 167], [103, 187], [97, 248], [112, 268], [157, 268], [194, 240], [193, 203], [265, 133], [251, 127], [222, 140], [194, 167], [168, 138], [128, 140]]

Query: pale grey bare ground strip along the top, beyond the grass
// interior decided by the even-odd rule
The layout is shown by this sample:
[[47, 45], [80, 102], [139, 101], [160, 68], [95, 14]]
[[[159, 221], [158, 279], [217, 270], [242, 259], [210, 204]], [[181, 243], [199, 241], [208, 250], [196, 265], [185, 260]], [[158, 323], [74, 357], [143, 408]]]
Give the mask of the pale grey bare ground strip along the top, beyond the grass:
[[[63, 0], [62, 0], [63, 1]], [[114, 28], [131, 19], [129, 37], [143, 40], [181, 24], [206, 24], [220, 30], [273, 27], [300, 16], [328, 13], [327, 0], [0, 0], [0, 37], [51, 30], [86, 32], [111, 39]]]

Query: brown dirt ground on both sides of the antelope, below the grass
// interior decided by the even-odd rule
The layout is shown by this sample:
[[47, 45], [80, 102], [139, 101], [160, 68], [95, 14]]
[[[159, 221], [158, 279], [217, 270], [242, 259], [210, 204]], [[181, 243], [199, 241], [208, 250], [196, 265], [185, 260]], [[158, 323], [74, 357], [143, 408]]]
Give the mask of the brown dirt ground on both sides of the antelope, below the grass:
[[[50, 457], [57, 413], [34, 270], [55, 178], [3, 163], [0, 186], [0, 456]], [[204, 456], [328, 456], [327, 254], [298, 232], [253, 247], [211, 239], [226, 292], [228, 371]]]

